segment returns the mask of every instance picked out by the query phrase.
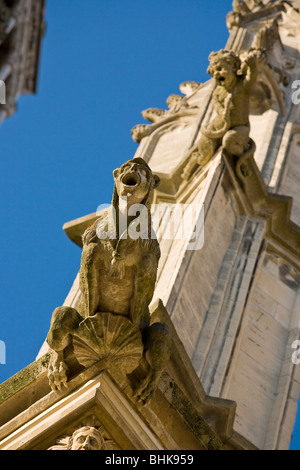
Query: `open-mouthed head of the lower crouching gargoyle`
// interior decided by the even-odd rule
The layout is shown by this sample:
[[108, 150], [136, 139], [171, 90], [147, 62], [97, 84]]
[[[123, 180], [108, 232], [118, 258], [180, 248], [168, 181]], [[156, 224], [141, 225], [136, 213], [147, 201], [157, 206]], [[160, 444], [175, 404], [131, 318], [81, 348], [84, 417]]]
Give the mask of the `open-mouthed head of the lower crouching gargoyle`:
[[127, 198], [127, 204], [146, 204], [153, 188], [159, 185], [159, 177], [154, 175], [142, 158], [134, 158], [113, 172], [115, 194]]

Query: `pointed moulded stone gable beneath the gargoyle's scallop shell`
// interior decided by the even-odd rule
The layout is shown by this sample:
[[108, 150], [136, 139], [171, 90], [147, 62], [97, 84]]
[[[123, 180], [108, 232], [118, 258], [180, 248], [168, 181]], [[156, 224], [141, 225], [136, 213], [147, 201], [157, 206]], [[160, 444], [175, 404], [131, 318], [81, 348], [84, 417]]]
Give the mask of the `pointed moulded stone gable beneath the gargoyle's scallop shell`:
[[[77, 430], [80, 435], [85, 428], [87, 438], [91, 427], [100, 432], [102, 439], [99, 437], [95, 445], [104, 440], [103, 450], [221, 450], [223, 441], [226, 448], [235, 448], [234, 440], [229, 442], [235, 404], [206, 396], [162, 303], [156, 303], [151, 313], [155, 323], [166, 322], [172, 330], [174, 356], [147, 407], [134, 399], [129, 381], [121, 385], [116, 370], [99, 374], [97, 364], [79, 374], [73, 370], [66, 389], [60, 394], [51, 392], [46, 375], [49, 357], [43, 357], [30, 366], [35, 394], [28, 382], [23, 389], [31, 406], [23, 400], [16, 408], [19, 392], [14, 387], [10, 394], [14, 404], [9, 400], [0, 404], [4, 418], [0, 449], [67, 450]], [[41, 361], [43, 370], [39, 368]], [[19, 378], [14, 377], [13, 382], [17, 384]], [[7, 410], [11, 413], [8, 421]]]

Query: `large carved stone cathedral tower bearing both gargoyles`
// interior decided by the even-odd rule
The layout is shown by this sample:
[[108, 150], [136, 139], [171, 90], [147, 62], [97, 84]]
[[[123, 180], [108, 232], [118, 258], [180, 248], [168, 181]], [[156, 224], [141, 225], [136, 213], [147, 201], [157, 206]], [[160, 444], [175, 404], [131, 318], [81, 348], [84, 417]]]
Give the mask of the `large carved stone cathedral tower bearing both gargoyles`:
[[[134, 315], [134, 328], [122, 317], [123, 298], [109, 312], [108, 300], [98, 301], [98, 310], [87, 307], [100, 289], [91, 272], [106, 262], [93, 258], [91, 245], [105, 224], [99, 229], [99, 214], [83, 216], [64, 226], [84, 254], [48, 342], [35, 363], [0, 386], [0, 449], [72, 448], [78, 430], [96, 433], [97, 448], [107, 449], [289, 448], [300, 392], [294, 354], [300, 339], [298, 8], [297, 1], [235, 0], [228, 42], [210, 55], [212, 78], [181, 84], [166, 110], [143, 111], [149, 124], [132, 129], [139, 147], [130, 170], [114, 174], [116, 191], [121, 183], [134, 187], [146, 176], [135, 179], [132, 165], [144, 165], [154, 175], [147, 176], [152, 208], [167, 217], [156, 224], [158, 266], [154, 257], [143, 268], [156, 275], [150, 328], [164, 325], [159, 334], [168, 330], [171, 338], [152, 401], [143, 405], [133, 393], [149, 364], [152, 370], [148, 325], [138, 324], [141, 342]], [[164, 221], [188, 207], [194, 218], [184, 236], [181, 225], [167, 233], [172, 223]], [[107, 222], [105, 214], [100, 219]], [[112, 266], [129, 289], [126, 260], [136, 248], [122, 255], [119, 245], [112, 244]], [[137, 270], [145, 253], [150, 259], [148, 251], [134, 258]], [[134, 298], [140, 301], [149, 285], [139, 285], [141, 296]], [[156, 334], [153, 350], [161, 357]], [[113, 341], [102, 347], [107, 337], [122, 348], [126, 343], [122, 367]], [[62, 355], [64, 362], [54, 364]], [[64, 380], [55, 389], [62, 363], [67, 369], [58, 370]]]

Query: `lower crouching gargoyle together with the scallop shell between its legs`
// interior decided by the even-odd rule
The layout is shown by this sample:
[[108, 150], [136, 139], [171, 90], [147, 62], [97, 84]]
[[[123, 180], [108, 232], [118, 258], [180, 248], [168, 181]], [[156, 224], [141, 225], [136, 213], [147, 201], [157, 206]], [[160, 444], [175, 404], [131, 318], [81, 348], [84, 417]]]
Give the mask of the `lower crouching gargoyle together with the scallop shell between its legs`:
[[[114, 365], [130, 374], [143, 361], [146, 375], [135, 396], [145, 404], [171, 354], [167, 326], [151, 324], [149, 313], [160, 258], [150, 215], [159, 178], [141, 158], [124, 163], [113, 176], [110, 208], [83, 234], [80, 305], [53, 312], [47, 335], [52, 349], [48, 377], [54, 391], [66, 385], [65, 351], [70, 344], [85, 367], [97, 362], [103, 370]], [[135, 207], [143, 212], [144, 224], [137, 223]]]

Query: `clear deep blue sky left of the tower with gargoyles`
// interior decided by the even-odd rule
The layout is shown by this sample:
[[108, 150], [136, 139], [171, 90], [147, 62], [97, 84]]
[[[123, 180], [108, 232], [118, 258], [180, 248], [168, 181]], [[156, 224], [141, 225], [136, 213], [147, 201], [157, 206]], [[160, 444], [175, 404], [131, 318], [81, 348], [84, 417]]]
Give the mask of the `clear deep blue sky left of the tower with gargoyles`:
[[[48, 0], [38, 93], [0, 128], [0, 383], [33, 362], [80, 266], [62, 225], [109, 203], [141, 111], [206, 81], [231, 0]], [[300, 445], [298, 448], [300, 448]]]

